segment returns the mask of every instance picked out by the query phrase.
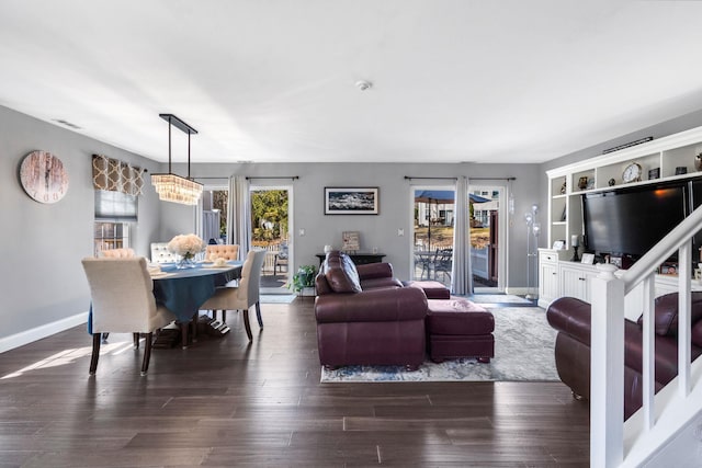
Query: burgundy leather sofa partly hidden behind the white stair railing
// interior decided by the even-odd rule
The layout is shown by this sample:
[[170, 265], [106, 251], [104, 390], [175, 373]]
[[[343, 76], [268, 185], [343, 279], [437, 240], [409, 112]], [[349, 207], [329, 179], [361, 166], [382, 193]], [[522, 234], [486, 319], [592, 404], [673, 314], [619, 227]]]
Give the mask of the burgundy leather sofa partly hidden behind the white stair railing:
[[[590, 305], [573, 297], [554, 300], [546, 310], [555, 328], [556, 368], [574, 397], [590, 398]], [[678, 375], [678, 294], [655, 301], [656, 391]], [[624, 419], [642, 407], [642, 326], [624, 323]], [[702, 293], [692, 293], [692, 359], [702, 354]]]

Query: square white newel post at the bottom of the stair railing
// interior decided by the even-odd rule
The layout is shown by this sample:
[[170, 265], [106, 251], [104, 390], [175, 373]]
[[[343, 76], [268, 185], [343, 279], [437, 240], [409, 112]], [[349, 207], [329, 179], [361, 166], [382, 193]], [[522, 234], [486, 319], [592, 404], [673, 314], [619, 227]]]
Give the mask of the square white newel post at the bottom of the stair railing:
[[616, 467], [624, 456], [624, 283], [599, 264], [591, 279], [590, 466]]

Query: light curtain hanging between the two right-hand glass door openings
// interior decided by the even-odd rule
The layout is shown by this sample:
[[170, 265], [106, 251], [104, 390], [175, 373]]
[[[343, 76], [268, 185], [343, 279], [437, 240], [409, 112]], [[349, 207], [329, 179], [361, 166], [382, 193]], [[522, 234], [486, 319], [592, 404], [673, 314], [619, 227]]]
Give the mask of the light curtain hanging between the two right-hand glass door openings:
[[453, 229], [453, 274], [451, 292], [454, 294], [473, 293], [471, 267], [471, 214], [468, 205], [468, 180], [456, 180], [455, 217]]

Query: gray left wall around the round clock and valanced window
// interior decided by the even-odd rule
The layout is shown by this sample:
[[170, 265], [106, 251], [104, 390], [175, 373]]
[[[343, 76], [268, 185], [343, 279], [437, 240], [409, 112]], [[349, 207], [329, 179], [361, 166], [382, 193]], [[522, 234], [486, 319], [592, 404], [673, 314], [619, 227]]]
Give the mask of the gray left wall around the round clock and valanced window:
[[[58, 156], [68, 172], [68, 192], [56, 204], [33, 201], [20, 184], [19, 165], [33, 150]], [[129, 161], [150, 172], [159, 165], [0, 107], [0, 339], [88, 310], [90, 295], [80, 259], [93, 252], [93, 153]], [[133, 232], [134, 247], [140, 254], [147, 253], [160, 225], [156, 193], [150, 185], [146, 192], [139, 197], [139, 224]]]

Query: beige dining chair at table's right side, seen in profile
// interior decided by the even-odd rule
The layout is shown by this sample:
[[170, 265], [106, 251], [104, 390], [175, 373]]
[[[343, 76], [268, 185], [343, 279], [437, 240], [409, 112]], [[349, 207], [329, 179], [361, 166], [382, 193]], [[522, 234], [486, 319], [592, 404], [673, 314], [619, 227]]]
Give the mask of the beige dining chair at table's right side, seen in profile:
[[202, 310], [222, 310], [222, 320], [226, 321], [227, 310], [244, 311], [244, 327], [249, 341], [252, 340], [251, 324], [249, 323], [249, 308], [256, 306], [256, 317], [259, 327], [263, 328], [261, 319], [261, 304], [259, 301], [259, 285], [261, 283], [261, 269], [267, 252], [264, 250], [251, 250], [241, 267], [241, 278], [238, 287], [218, 287], [215, 295], [205, 301], [200, 308]]

